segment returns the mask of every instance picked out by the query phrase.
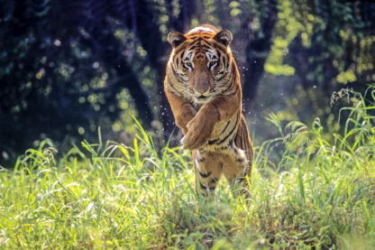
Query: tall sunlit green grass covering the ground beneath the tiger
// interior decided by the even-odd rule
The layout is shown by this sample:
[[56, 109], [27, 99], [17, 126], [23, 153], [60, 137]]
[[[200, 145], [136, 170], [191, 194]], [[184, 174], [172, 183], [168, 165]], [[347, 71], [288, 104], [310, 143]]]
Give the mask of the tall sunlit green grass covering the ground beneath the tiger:
[[256, 149], [250, 204], [225, 181], [215, 201], [197, 197], [190, 154], [157, 152], [140, 126], [133, 145], [99, 136], [59, 160], [44, 141], [0, 170], [0, 248], [375, 249], [371, 109], [352, 97], [330, 142], [318, 119], [271, 115], [280, 136]]

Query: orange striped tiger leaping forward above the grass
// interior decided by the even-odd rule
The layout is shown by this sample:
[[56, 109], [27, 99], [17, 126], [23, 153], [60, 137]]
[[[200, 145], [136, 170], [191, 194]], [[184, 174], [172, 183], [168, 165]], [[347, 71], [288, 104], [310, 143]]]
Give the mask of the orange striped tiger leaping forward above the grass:
[[[172, 51], [164, 91], [182, 148], [192, 151], [198, 195], [215, 197], [224, 175], [233, 190], [250, 198], [253, 148], [242, 115], [240, 73], [232, 32], [203, 24], [185, 34], [169, 32]], [[234, 188], [235, 187], [235, 188]], [[237, 193], [237, 192], [236, 192]]]

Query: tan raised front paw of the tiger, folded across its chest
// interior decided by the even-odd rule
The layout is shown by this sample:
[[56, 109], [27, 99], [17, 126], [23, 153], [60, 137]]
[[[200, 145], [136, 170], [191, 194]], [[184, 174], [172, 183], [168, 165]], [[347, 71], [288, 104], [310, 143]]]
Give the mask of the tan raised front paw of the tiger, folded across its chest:
[[215, 123], [194, 117], [188, 122], [188, 133], [181, 139], [183, 148], [194, 150], [204, 146], [214, 130]]

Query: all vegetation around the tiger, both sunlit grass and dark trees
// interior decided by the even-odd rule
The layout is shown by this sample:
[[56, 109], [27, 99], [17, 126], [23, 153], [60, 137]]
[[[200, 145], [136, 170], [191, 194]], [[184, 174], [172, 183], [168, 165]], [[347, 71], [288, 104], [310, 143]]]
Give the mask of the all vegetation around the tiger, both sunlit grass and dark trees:
[[[0, 10], [0, 249], [375, 249], [373, 1]], [[166, 35], [199, 23], [233, 32], [250, 203], [197, 197], [176, 143]]]

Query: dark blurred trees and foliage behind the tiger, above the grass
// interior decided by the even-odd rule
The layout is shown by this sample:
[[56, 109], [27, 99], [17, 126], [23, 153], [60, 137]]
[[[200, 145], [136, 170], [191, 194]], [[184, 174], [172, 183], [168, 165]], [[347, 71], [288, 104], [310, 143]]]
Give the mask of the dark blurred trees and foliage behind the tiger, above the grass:
[[164, 144], [174, 128], [162, 91], [166, 36], [200, 23], [233, 32], [258, 140], [270, 137], [262, 118], [270, 112], [285, 123], [322, 116], [336, 130], [332, 93], [363, 93], [375, 81], [370, 1], [10, 0], [0, 10], [5, 165], [46, 137], [70, 144], [99, 125], [105, 137], [128, 141], [132, 116]]

